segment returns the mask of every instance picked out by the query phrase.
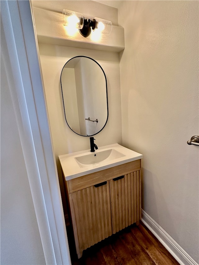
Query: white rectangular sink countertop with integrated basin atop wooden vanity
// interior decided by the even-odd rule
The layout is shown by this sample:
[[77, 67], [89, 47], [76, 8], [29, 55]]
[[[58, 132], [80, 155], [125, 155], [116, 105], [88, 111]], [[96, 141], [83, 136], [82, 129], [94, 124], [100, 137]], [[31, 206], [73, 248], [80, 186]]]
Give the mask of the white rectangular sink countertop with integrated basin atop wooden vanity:
[[59, 156], [62, 171], [66, 180], [84, 176], [141, 159], [140, 153], [119, 144], [100, 147], [91, 153], [90, 150]]

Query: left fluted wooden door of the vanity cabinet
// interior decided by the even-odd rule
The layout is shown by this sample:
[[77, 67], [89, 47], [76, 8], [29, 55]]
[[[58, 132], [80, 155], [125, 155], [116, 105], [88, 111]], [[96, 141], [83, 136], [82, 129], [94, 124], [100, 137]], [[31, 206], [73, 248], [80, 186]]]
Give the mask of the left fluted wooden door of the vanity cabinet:
[[84, 249], [112, 235], [109, 190], [107, 181], [69, 194], [78, 258]]

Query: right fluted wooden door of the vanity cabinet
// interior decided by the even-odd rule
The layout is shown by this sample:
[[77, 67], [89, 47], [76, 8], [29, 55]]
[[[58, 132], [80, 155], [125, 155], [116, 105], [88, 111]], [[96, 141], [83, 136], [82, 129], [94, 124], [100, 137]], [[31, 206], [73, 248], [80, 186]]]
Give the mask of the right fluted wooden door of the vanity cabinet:
[[140, 170], [110, 180], [113, 234], [141, 219]]

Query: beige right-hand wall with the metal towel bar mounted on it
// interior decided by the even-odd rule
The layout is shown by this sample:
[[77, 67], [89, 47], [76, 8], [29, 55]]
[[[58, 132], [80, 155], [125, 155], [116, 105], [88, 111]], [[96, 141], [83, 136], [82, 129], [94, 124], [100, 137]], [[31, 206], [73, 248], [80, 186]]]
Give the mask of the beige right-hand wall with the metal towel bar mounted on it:
[[123, 145], [143, 154], [142, 208], [198, 258], [198, 1], [122, 1]]

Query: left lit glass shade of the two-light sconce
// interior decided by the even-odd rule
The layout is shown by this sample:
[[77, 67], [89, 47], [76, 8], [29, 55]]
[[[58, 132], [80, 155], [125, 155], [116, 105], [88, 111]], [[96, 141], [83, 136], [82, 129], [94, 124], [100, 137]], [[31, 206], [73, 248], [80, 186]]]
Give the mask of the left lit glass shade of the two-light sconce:
[[82, 29], [84, 25], [84, 16], [81, 13], [63, 9], [63, 25]]

